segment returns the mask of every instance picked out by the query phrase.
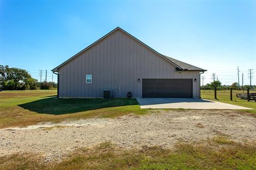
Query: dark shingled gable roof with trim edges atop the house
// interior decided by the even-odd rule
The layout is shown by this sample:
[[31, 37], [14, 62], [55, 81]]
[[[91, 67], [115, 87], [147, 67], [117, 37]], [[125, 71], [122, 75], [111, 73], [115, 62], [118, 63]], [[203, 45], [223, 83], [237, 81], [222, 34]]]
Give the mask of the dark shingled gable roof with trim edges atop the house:
[[[179, 71], [188, 71], [188, 70], [183, 69], [183, 68], [180, 66], [180, 65], [182, 65], [182, 64], [180, 64], [179, 62], [181, 62], [181, 61], [175, 60], [174, 58], [167, 57], [167, 56], [165, 56], [165, 55], [162, 55], [162, 54], [158, 53], [156, 50], [154, 50], [153, 48], [149, 47], [148, 45], [146, 45], [145, 43], [143, 43], [143, 42], [140, 41], [139, 39], [135, 38], [135, 37], [132, 36], [130, 33], [126, 32], [125, 30], [123, 30], [123, 29], [120, 28], [120, 27], [117, 27], [117, 28], [115, 28], [114, 30], [110, 31], [110, 32], [107, 33], [105, 36], [103, 36], [103, 37], [101, 37], [100, 39], [98, 39], [97, 41], [95, 41], [93, 44], [91, 44], [91, 45], [89, 45], [88, 47], [86, 47], [86, 48], [84, 48], [83, 50], [81, 50], [81, 52], [75, 54], [73, 57], [69, 58], [67, 61], [61, 63], [59, 66], [57, 66], [57, 67], [55, 67], [54, 69], [52, 69], [52, 71], [53, 71], [53, 72], [57, 72], [57, 69], [58, 69], [59, 67], [61, 67], [62, 65], [66, 64], [67, 62], [69, 62], [70, 60], [72, 60], [73, 58], [75, 58], [76, 56], [78, 56], [79, 54], [83, 53], [85, 50], [89, 49], [89, 48], [92, 47], [93, 45], [99, 43], [99, 41], [101, 41], [102, 39], [106, 38], [106, 37], [109, 36], [111, 33], [115, 32], [115, 31], [117, 31], [117, 30], [120, 30], [120, 31], [124, 32], [126, 35], [130, 36], [130, 37], [133, 38], [134, 40], [136, 40], [136, 41], [138, 41], [139, 43], [141, 43], [143, 46], [146, 46], [147, 48], [149, 48], [150, 50], [152, 50], [154, 53], [158, 54], [160, 57], [163, 57], [165, 60], [169, 61], [169, 62], [172, 63], [174, 66], [176, 66], [176, 69], [177, 69], [177, 70], [179, 70]], [[181, 62], [181, 63], [183, 63], [183, 62]], [[178, 64], [180, 64], [180, 65], [178, 65]], [[184, 63], [183, 65], [185, 65], [185, 64], [187, 64], [187, 63]], [[187, 64], [187, 65], [190, 65], [190, 64]], [[190, 66], [193, 66], [193, 65], [190, 65]], [[206, 70], [200, 69], [200, 68], [195, 67], [195, 66], [193, 66], [193, 67], [194, 67], [194, 68], [197, 68], [197, 69], [199, 69], [199, 70], [189, 70], [189, 71], [206, 71]], [[191, 69], [193, 69], [193, 68], [191, 67]]]

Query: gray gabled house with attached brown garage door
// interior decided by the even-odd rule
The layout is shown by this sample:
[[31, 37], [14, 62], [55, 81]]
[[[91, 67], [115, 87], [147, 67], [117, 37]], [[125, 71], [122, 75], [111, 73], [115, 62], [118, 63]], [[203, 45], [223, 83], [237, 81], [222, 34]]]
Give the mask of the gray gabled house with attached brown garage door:
[[[156, 52], [117, 27], [55, 67], [59, 98], [199, 98], [204, 69]], [[58, 73], [57, 73], [58, 72]]]

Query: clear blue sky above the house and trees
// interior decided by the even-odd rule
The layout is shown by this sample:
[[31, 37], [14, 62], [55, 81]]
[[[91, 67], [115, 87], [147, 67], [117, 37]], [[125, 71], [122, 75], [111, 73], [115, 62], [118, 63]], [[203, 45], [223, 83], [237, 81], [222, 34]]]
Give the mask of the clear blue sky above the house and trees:
[[[121, 27], [222, 84], [256, 84], [256, 1], [0, 1], [0, 64], [51, 70]], [[217, 79], [217, 77], [216, 77]], [[53, 81], [57, 77], [53, 75]]]

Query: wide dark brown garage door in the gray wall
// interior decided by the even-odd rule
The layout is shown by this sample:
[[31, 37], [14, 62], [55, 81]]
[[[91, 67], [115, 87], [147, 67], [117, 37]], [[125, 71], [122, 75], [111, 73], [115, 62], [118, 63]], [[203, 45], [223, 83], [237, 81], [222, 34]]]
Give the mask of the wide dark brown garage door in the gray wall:
[[142, 79], [142, 97], [191, 98], [192, 79]]

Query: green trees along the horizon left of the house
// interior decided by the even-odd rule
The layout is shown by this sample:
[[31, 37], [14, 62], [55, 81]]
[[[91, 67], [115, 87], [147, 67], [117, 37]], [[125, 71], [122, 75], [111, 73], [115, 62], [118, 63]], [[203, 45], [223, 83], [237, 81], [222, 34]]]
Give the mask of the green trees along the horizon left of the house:
[[0, 65], [0, 89], [1, 90], [36, 90], [57, 88], [55, 82], [38, 82], [31, 77], [28, 71]]

